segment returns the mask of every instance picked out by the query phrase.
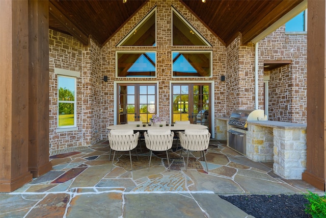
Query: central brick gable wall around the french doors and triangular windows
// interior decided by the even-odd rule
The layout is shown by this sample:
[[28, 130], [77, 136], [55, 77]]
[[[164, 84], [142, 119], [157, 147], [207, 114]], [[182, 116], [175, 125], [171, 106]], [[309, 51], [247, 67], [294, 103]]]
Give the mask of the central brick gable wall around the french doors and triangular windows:
[[[211, 44], [207, 46], [173, 46], [171, 39], [172, 8], [171, 5]], [[154, 7], [156, 7], [156, 46], [116, 46], [132, 28], [137, 25]], [[172, 51], [180, 50], [208, 50], [213, 51], [213, 77], [212, 78], [172, 78]], [[156, 51], [157, 78], [116, 78], [116, 51]], [[159, 0], [149, 1], [138, 11], [120, 31], [118, 31], [103, 47], [102, 77], [107, 76], [108, 82], [102, 82], [102, 137], [107, 134], [106, 125], [114, 123], [114, 82], [158, 82], [158, 113], [168, 119], [170, 111], [170, 81], [173, 82], [210, 82], [214, 81], [215, 117], [225, 114], [226, 85], [221, 81], [221, 76], [226, 75], [226, 47], [216, 38], [196, 16], [188, 11], [179, 1]]]

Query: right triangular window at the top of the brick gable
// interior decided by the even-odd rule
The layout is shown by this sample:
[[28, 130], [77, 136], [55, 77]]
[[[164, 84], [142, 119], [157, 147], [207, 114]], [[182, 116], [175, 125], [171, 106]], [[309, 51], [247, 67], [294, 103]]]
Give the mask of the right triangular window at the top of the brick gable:
[[172, 8], [172, 14], [172, 45], [211, 46], [174, 8]]

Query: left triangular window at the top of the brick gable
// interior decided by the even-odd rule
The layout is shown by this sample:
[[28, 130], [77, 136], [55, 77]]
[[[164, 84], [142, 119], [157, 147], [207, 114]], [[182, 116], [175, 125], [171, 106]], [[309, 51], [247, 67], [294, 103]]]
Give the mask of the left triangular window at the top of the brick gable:
[[118, 46], [155, 46], [156, 45], [156, 9], [153, 9], [144, 19], [119, 42]]

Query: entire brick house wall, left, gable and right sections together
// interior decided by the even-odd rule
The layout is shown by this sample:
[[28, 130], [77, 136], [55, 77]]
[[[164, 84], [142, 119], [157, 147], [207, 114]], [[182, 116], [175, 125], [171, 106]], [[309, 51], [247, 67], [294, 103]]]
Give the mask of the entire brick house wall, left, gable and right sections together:
[[[212, 47], [173, 46], [171, 6], [191, 23]], [[155, 7], [156, 46], [116, 46]], [[265, 72], [270, 76], [270, 119], [290, 122], [306, 120], [305, 43], [306, 36], [285, 35], [284, 27], [259, 43], [259, 109], [263, 109], [263, 60], [293, 60], [290, 67]], [[172, 51], [180, 50], [212, 51], [212, 78], [172, 78]], [[89, 146], [98, 140], [106, 139], [106, 126], [114, 124], [114, 88], [119, 82], [157, 82], [158, 112], [164, 119], [170, 115], [170, 81], [213, 82], [214, 101], [211, 103], [214, 105], [215, 127], [219, 126], [217, 117], [229, 116], [237, 108], [255, 107], [254, 45], [242, 46], [240, 37], [237, 37], [226, 47], [178, 0], [148, 1], [102, 47], [92, 39], [89, 46], [84, 47], [69, 35], [49, 30], [49, 51], [50, 152]], [[157, 77], [116, 78], [116, 51], [155, 51]], [[55, 67], [80, 72], [76, 90], [78, 130], [57, 132], [58, 91]], [[222, 75], [225, 76], [225, 81], [221, 81]], [[107, 82], [103, 81], [103, 76], [108, 77]], [[220, 134], [221, 129], [213, 129], [216, 134]]]

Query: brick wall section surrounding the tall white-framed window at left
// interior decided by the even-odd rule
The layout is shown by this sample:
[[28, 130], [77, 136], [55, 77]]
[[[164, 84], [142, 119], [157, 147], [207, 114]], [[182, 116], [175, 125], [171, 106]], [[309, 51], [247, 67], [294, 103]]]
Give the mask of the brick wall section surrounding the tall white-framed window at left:
[[83, 46], [71, 36], [49, 30], [49, 151], [80, 146], [83, 140], [82, 102], [83, 79], [77, 78], [77, 127], [78, 131], [57, 132], [58, 83], [55, 68], [82, 72]]

